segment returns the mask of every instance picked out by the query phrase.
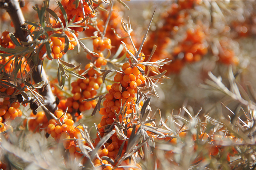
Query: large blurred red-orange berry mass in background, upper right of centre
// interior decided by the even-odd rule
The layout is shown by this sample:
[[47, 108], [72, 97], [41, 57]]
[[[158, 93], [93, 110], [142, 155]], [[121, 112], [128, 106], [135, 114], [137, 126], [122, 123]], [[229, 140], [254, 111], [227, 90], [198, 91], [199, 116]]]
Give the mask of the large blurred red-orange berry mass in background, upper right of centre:
[[165, 21], [162, 28], [151, 34], [150, 39], [146, 41], [146, 50], [148, 53], [152, 51], [153, 45], [157, 45], [152, 61], [157, 61], [162, 58], [170, 58], [172, 60], [170, 66], [164, 66], [163, 70], [168, 72], [178, 73], [183, 68], [186, 62], [196, 62], [201, 60], [202, 56], [207, 54], [207, 43], [203, 29], [196, 25], [194, 28], [186, 30], [186, 37], [173, 48], [170, 53], [168, 45], [171, 43], [170, 38], [174, 38], [180, 28], [185, 27], [188, 20], [188, 10], [191, 9], [197, 1], [178, 1], [172, 3], [169, 11], [162, 15]]

